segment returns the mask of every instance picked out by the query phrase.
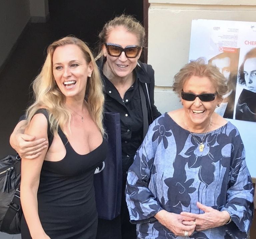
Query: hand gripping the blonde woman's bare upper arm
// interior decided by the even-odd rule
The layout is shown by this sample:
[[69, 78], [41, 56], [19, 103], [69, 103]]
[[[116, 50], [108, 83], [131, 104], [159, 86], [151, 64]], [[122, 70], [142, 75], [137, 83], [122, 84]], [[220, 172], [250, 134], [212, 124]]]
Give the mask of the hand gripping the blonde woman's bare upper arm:
[[12, 146], [21, 158], [34, 159], [41, 154], [43, 149], [48, 147], [48, 141], [45, 138], [35, 140], [35, 136], [17, 133]]

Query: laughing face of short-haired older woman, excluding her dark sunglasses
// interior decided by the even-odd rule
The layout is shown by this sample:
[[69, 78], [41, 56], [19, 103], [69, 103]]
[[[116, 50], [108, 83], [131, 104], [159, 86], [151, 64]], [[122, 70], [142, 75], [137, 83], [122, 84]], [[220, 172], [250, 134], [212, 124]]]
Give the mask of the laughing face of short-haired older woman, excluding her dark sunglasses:
[[[185, 81], [183, 92], [194, 93], [196, 95], [203, 93], [216, 93], [216, 87], [207, 77], [192, 76]], [[202, 102], [198, 97], [194, 101], [186, 101], [182, 99], [183, 109], [185, 111], [185, 123], [189, 129], [198, 129], [200, 127], [207, 128], [210, 118], [217, 104], [221, 103], [221, 99], [217, 96], [214, 101]]]

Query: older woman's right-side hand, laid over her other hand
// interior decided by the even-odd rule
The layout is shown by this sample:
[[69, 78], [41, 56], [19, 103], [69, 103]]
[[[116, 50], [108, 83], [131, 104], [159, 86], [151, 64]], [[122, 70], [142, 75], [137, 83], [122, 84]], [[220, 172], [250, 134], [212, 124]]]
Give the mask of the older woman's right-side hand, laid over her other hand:
[[193, 223], [196, 231], [203, 231], [209, 228], [219, 227], [227, 223], [230, 219], [230, 215], [227, 211], [218, 211], [212, 207], [205, 206], [200, 202], [197, 202], [197, 207], [204, 211], [203, 214], [195, 214], [190, 212], [181, 212], [181, 215], [194, 218], [194, 222], [191, 220], [184, 220], [184, 225], [191, 225]]

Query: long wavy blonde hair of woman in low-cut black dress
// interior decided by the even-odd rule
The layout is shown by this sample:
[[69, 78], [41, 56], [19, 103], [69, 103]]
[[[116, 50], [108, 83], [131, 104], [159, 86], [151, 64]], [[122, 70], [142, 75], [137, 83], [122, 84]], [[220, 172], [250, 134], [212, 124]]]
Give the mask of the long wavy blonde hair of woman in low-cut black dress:
[[[93, 72], [87, 81], [85, 99], [88, 103], [91, 117], [103, 135], [104, 95], [100, 73], [88, 46], [74, 36], [61, 38], [50, 44], [47, 48], [47, 57], [42, 70], [32, 83], [34, 103], [28, 107], [26, 112], [27, 125], [38, 109], [47, 108], [52, 133], [57, 132], [59, 126], [63, 129], [65, 125], [68, 125], [70, 129], [71, 114], [65, 107], [65, 96], [61, 93], [54, 80], [52, 66], [52, 57], [55, 49], [65, 45], [78, 46], [84, 54], [85, 61], [88, 64], [92, 63]], [[64, 133], [66, 134], [67, 132]]]

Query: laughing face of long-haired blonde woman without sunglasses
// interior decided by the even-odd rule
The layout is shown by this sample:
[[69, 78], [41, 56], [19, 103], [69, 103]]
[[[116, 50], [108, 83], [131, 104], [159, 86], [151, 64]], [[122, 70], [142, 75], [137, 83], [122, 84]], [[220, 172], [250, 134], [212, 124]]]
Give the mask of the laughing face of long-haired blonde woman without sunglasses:
[[87, 78], [92, 74], [92, 64], [87, 63], [76, 45], [57, 47], [52, 57], [53, 76], [66, 97], [84, 98]]

